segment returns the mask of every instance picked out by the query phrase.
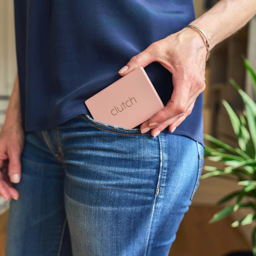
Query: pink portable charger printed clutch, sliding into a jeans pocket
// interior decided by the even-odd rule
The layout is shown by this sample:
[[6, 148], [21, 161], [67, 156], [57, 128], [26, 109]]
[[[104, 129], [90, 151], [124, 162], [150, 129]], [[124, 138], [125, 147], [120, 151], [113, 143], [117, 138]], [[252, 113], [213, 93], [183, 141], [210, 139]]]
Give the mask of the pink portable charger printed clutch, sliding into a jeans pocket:
[[147, 121], [164, 108], [142, 67], [98, 92], [85, 104], [94, 120], [127, 129]]

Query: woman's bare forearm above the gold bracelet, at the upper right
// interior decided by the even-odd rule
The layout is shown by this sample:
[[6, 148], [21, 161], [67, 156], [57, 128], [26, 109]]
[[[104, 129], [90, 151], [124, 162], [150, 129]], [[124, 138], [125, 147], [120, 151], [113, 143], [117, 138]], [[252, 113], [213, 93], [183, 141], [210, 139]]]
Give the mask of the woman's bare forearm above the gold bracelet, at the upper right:
[[216, 44], [244, 27], [255, 14], [256, 0], [221, 0], [190, 25], [205, 32], [211, 50]]

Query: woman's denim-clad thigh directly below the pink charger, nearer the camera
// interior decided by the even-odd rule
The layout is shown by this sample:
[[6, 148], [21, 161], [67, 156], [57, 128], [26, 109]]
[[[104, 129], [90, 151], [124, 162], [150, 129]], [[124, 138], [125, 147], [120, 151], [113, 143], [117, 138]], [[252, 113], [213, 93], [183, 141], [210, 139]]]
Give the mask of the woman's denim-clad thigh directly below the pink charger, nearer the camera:
[[87, 115], [54, 132], [66, 166], [73, 255], [168, 255], [198, 185], [203, 147], [185, 136], [153, 138]]

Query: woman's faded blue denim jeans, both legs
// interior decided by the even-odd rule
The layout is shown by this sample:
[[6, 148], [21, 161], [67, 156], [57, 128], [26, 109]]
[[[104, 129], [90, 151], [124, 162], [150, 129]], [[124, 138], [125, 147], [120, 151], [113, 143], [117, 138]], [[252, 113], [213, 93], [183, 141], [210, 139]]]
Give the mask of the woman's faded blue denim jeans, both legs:
[[6, 256], [168, 255], [203, 152], [182, 135], [153, 138], [88, 115], [28, 132]]

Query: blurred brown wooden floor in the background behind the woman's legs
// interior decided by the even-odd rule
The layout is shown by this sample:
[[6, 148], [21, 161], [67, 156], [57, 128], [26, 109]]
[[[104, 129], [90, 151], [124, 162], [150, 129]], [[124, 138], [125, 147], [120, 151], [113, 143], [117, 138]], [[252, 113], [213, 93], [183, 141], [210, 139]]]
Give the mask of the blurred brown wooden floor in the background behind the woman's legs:
[[[222, 256], [232, 250], [250, 250], [230, 217], [208, 224], [220, 210], [215, 206], [191, 205], [180, 224], [169, 256]], [[0, 256], [4, 256], [8, 211], [0, 216]], [[159, 255], [161, 256], [161, 255]]]

